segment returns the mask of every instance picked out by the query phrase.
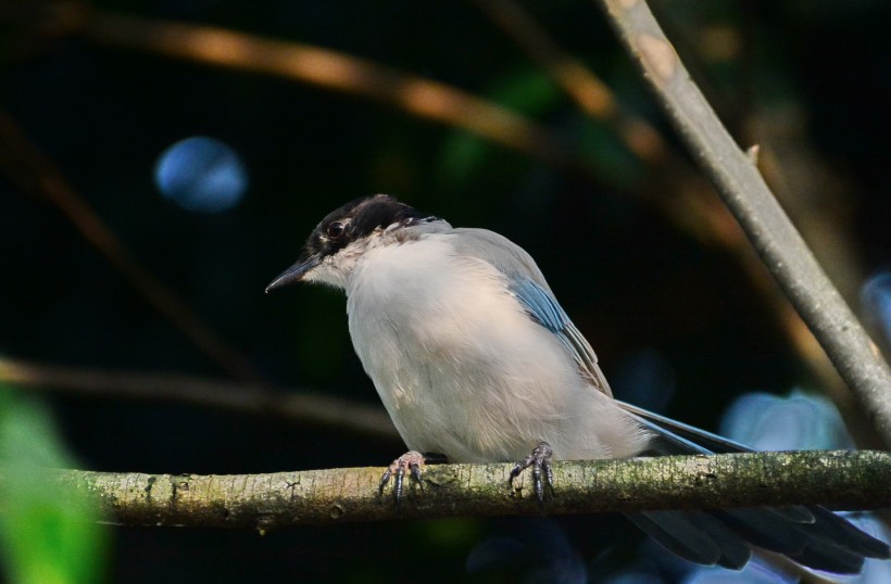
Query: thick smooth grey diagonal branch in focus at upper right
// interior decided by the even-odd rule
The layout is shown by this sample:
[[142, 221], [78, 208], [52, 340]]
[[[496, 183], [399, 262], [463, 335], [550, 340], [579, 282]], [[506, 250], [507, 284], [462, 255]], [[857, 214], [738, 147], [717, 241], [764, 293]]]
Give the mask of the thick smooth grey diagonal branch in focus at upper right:
[[891, 446], [891, 369], [690, 79], [643, 0], [601, 0], [678, 134], [725, 204]]

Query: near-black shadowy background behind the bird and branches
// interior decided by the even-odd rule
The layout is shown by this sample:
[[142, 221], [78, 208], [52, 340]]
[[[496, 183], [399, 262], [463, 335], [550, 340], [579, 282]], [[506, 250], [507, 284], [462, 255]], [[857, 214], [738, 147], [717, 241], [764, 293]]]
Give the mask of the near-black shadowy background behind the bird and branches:
[[[593, 3], [522, 5], [690, 164]], [[351, 92], [91, 39], [77, 18], [45, 26], [55, 17], [48, 7], [59, 8], [0, 3], [0, 109], [136, 261], [267, 382], [377, 404], [350, 345], [342, 295], [301, 287], [266, 296], [263, 289], [297, 258], [325, 214], [355, 196], [388, 192], [452, 225], [499, 231], [531, 253], [619, 396], [715, 430], [740, 394], [826, 389], [783, 333], [769, 294], [733, 253], [701, 237], [697, 217], [688, 217], [693, 227], [680, 228], [666, 205], [653, 202], [679, 196], [677, 185], [654, 178], [610, 127], [586, 118], [474, 2], [103, 1], [77, 14], [86, 22], [95, 10], [214, 25], [384, 63], [537, 120], [589, 158], [594, 173], [545, 164]], [[882, 274], [891, 252], [889, 4], [664, 0], [653, 7], [740, 143], [760, 143], [773, 156], [767, 178], [794, 193], [783, 203], [798, 205], [798, 217], [813, 227], [805, 234], [824, 238], [823, 261], [837, 261], [837, 245], [851, 251], [844, 265], [827, 269], [845, 275], [840, 288], [859, 310], [858, 290], [870, 274]], [[236, 206], [196, 213], [160, 192], [159, 157], [193, 136], [219, 140], [240, 158], [247, 189]], [[230, 379], [57, 205], [11, 178], [21, 166], [7, 161], [0, 170], [2, 355]], [[192, 173], [186, 192], [206, 178], [199, 163], [184, 173]], [[382, 466], [403, 450], [398, 441], [273, 416], [64, 391], [47, 402], [79, 465], [96, 470]], [[572, 547], [588, 577], [599, 581], [637, 561], [638, 536], [617, 518], [574, 518], [561, 529], [566, 541], [553, 525], [518, 520], [301, 528], [265, 537], [116, 529], [109, 580], [484, 582], [561, 564]], [[513, 543], [499, 547], [506, 539], [491, 539], [498, 535]], [[530, 551], [504, 551], [524, 549], [527, 535]], [[639, 572], [666, 581], [686, 573], [644, 549], [651, 559], [636, 564]], [[500, 553], [510, 558], [507, 568], [467, 574], [468, 558], [498, 563], [492, 558]]]

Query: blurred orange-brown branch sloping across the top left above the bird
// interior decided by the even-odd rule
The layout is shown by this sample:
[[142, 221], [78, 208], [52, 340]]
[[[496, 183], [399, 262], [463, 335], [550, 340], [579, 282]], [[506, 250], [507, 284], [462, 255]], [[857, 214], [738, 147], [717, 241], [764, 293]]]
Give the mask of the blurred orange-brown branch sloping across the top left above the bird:
[[84, 33], [103, 45], [275, 75], [373, 98], [413, 115], [464, 128], [554, 166], [591, 172], [550, 130], [522, 115], [446, 84], [330, 49], [214, 26], [108, 12], [96, 12], [87, 18]]

